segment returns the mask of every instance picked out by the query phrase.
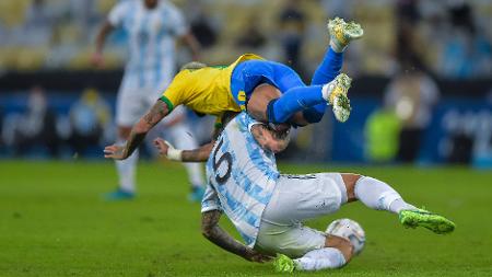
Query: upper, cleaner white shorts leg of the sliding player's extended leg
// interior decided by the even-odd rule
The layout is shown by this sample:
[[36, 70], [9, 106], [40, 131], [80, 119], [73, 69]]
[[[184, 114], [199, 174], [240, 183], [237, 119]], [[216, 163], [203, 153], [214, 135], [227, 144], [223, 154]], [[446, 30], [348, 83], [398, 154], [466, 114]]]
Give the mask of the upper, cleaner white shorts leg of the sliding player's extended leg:
[[338, 173], [281, 175], [263, 218], [289, 224], [332, 213], [347, 201], [342, 183]]

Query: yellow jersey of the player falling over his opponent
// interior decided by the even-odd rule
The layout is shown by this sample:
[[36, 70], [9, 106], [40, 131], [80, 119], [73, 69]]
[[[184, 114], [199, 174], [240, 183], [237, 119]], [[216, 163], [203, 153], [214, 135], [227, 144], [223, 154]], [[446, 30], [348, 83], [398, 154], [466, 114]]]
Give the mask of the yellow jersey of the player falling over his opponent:
[[231, 92], [231, 76], [234, 68], [245, 60], [263, 59], [254, 54], [245, 54], [227, 67], [204, 67], [184, 69], [164, 91], [161, 100], [171, 111], [186, 105], [196, 113], [221, 117], [224, 112], [241, 112], [242, 107]]

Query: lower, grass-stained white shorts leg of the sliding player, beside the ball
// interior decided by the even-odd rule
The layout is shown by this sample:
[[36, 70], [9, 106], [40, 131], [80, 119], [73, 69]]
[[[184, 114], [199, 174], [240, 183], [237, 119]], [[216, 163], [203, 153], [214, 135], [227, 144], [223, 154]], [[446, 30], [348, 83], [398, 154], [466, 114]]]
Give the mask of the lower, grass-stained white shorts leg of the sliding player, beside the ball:
[[301, 223], [293, 226], [261, 221], [255, 249], [274, 255], [301, 257], [309, 251], [323, 249], [326, 234]]

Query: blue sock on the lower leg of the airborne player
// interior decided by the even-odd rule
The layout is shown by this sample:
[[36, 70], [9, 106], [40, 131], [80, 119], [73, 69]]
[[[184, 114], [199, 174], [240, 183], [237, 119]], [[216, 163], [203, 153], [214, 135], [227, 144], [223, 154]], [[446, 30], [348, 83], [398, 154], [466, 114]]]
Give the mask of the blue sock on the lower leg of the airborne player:
[[300, 111], [308, 109], [318, 104], [326, 105], [321, 88], [321, 85], [309, 85], [290, 89], [280, 99], [268, 104], [268, 120], [273, 124], [285, 123]]

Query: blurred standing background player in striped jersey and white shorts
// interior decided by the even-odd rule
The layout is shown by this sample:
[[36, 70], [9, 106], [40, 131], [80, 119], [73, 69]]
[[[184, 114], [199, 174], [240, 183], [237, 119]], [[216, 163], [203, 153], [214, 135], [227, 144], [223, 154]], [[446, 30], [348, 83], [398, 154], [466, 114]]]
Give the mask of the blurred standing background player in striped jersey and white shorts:
[[[103, 61], [103, 46], [114, 28], [122, 28], [128, 35], [129, 59], [125, 69], [116, 105], [118, 140], [126, 141], [131, 126], [153, 105], [175, 73], [175, 43], [183, 39], [198, 56], [199, 45], [189, 33], [181, 12], [166, 0], [121, 1], [109, 12], [96, 38], [93, 61]], [[165, 126], [174, 143], [194, 149], [196, 140], [187, 135], [186, 111], [176, 108], [161, 126]], [[106, 195], [107, 199], [130, 199], [136, 191], [138, 151], [126, 161], [117, 161], [119, 188]], [[202, 169], [199, 164], [185, 164], [192, 187], [191, 200], [200, 200], [203, 194]]]

